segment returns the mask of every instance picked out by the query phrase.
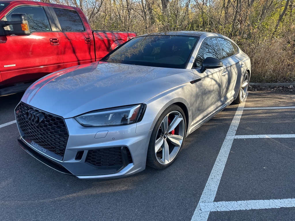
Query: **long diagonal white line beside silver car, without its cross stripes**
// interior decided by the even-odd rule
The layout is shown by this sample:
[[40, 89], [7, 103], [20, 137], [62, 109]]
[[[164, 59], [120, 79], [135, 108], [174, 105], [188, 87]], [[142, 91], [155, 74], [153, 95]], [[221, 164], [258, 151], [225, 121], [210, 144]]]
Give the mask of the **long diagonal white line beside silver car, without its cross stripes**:
[[215, 164], [213, 166], [213, 169], [211, 171], [211, 174], [208, 178], [208, 181], [206, 183], [205, 189], [201, 195], [200, 201], [196, 207], [196, 210], [194, 212], [193, 217], [191, 218], [191, 221], [196, 220], [207, 220], [209, 217], [210, 210], [202, 210], [201, 205], [203, 203], [213, 202], [214, 198], [217, 193], [217, 189], [220, 183], [220, 179], [224, 170], [224, 166], [227, 161], [227, 157], [230, 153], [230, 149], [232, 147], [232, 142], [234, 141], [234, 136], [237, 131], [237, 128], [240, 123], [240, 119], [243, 113], [243, 109], [246, 103], [248, 93], [246, 94], [245, 100], [243, 103], [239, 104], [239, 107], [237, 109], [237, 112], [235, 113], [234, 118], [232, 119], [232, 123], [230, 124], [230, 128], [227, 131], [227, 135], [224, 139], [224, 142], [222, 144], [222, 147], [219, 151], [219, 154], [217, 156], [217, 159], [215, 161]]

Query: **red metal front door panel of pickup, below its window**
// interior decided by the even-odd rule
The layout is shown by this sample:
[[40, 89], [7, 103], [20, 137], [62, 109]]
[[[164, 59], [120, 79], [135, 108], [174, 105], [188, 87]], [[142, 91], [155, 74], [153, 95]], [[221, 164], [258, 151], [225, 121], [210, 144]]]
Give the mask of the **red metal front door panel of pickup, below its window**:
[[29, 36], [0, 37], [0, 72], [3, 85], [37, 80], [63, 69], [60, 45], [51, 45], [57, 32], [34, 32]]

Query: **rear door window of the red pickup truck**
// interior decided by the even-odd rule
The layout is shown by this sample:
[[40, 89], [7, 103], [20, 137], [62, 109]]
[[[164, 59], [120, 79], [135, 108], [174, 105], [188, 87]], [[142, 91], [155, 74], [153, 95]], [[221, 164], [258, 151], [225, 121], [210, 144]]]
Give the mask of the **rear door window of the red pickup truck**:
[[83, 32], [84, 26], [74, 10], [53, 8], [63, 32]]

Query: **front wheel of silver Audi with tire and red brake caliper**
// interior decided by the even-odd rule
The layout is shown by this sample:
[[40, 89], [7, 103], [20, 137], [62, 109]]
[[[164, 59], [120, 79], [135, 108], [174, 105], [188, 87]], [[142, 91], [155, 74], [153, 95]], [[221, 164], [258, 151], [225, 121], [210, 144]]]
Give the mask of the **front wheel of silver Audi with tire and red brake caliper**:
[[171, 105], [158, 119], [148, 145], [147, 165], [156, 169], [170, 166], [181, 151], [186, 136], [183, 110]]

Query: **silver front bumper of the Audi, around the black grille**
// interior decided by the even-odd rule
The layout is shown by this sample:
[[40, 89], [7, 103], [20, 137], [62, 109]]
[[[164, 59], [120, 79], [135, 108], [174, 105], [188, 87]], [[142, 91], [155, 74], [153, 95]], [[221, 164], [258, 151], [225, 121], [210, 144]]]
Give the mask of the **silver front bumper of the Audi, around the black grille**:
[[[19, 145], [31, 156], [45, 165], [64, 174], [80, 179], [104, 179], [125, 177], [145, 169], [146, 154], [151, 131], [136, 133], [136, 124], [113, 127], [83, 127], [75, 119], [65, 119], [69, 131], [68, 143], [62, 160], [54, 158], [50, 151], [32, 145], [20, 130]], [[20, 128], [19, 128], [20, 129]], [[105, 137], [99, 137], [99, 131], [108, 131]], [[34, 143], [34, 142], [33, 142]], [[89, 151], [120, 148], [123, 164], [121, 166], [97, 166], [87, 161]], [[124, 155], [128, 149], [129, 161]], [[51, 155], [51, 156], [50, 156]], [[131, 160], [130, 160], [131, 155]], [[78, 157], [77, 157], [78, 156]]]

